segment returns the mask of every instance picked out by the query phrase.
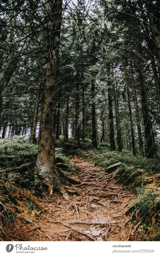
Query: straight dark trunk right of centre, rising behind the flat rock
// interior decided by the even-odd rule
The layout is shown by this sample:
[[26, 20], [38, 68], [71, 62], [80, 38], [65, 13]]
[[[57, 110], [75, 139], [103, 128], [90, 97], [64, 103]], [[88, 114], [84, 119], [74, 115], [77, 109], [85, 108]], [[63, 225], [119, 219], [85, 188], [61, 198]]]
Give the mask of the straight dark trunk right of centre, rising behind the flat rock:
[[108, 84], [108, 106], [109, 106], [109, 121], [110, 121], [110, 149], [114, 151], [116, 149], [114, 141], [114, 127], [113, 127], [113, 109], [112, 109], [112, 90], [110, 83], [110, 64], [107, 67], [107, 84]]

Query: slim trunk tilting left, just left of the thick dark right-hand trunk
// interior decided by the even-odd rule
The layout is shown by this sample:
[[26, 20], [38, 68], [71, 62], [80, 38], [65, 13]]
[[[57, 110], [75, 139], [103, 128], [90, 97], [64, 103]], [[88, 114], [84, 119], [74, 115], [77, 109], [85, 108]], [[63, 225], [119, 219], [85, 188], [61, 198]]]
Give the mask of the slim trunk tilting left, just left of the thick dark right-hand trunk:
[[140, 156], [144, 157], [142, 133], [141, 133], [141, 127], [140, 127], [140, 117], [139, 117], [139, 110], [138, 110], [138, 103], [137, 103], [137, 93], [136, 93], [136, 89], [135, 89], [134, 85], [133, 85], [133, 95], [134, 95], [134, 106], [135, 106], [135, 111], [136, 111]]

